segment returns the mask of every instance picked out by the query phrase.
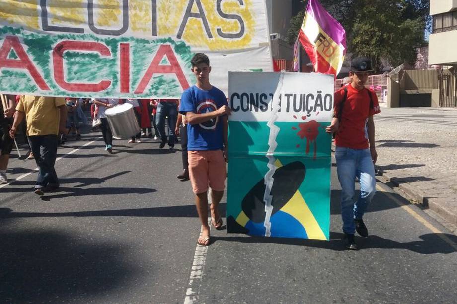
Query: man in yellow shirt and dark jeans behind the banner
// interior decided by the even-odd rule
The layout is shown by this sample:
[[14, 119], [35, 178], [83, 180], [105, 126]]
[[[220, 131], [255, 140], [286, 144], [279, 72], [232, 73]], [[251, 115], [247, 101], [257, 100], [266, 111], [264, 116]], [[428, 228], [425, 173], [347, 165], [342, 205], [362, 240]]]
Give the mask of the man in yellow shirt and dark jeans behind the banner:
[[54, 164], [57, 158], [58, 135], [66, 132], [65, 98], [21, 96], [16, 106], [13, 126], [9, 131], [11, 137], [16, 134], [16, 128], [24, 116], [30, 147], [39, 168], [34, 191], [43, 195], [44, 191], [59, 188]]

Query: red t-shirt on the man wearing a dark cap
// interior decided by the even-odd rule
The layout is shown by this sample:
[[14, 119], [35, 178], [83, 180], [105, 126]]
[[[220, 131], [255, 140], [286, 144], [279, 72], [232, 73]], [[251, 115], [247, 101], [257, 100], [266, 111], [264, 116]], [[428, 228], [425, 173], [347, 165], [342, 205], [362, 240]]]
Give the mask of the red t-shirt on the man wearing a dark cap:
[[[378, 97], [370, 89], [355, 89], [352, 85], [347, 86], [348, 96], [343, 106], [341, 121], [335, 136], [335, 145], [351, 149], [368, 149], [368, 117], [381, 112]], [[373, 108], [370, 108], [370, 96], [373, 100]], [[344, 98], [344, 89], [335, 92], [335, 114], [340, 110], [339, 106]]]

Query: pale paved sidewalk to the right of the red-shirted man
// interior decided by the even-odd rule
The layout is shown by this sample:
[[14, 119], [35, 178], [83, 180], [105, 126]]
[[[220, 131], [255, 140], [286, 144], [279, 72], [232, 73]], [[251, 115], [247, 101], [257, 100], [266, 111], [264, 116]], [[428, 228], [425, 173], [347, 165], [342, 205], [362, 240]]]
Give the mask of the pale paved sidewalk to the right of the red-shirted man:
[[380, 175], [457, 226], [457, 108], [381, 108]]

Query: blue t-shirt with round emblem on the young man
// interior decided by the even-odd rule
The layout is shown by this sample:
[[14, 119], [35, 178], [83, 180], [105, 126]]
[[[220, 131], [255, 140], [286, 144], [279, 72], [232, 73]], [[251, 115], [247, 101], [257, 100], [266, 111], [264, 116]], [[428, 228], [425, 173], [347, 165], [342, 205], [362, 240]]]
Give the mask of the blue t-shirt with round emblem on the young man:
[[[194, 85], [182, 93], [179, 113], [204, 114], [216, 111], [223, 105], [229, 105], [224, 92], [214, 86], [205, 91]], [[222, 150], [223, 143], [222, 117], [217, 116], [199, 124], [187, 124], [187, 150]]]

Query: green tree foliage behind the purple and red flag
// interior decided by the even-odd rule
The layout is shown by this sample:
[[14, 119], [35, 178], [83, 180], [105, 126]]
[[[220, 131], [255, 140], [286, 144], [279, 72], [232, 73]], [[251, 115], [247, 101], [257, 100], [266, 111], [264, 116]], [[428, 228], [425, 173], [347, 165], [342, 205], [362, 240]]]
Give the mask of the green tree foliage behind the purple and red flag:
[[[320, 0], [346, 29], [348, 53], [371, 58], [377, 71], [388, 61], [414, 64], [416, 48], [424, 44], [430, 27], [429, 0]], [[287, 40], [293, 44], [303, 21], [291, 21]]]

